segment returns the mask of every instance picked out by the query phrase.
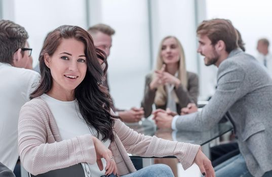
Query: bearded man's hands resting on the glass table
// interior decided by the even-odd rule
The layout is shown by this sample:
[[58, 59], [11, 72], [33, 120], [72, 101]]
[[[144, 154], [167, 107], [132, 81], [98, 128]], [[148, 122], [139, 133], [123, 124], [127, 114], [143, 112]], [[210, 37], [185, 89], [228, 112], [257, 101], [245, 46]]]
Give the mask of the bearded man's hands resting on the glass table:
[[[181, 109], [181, 115], [197, 112], [198, 107], [195, 103], [189, 103], [187, 107]], [[176, 112], [171, 111], [169, 108], [166, 110], [157, 109], [153, 112], [153, 120], [159, 128], [171, 128], [173, 117], [178, 115]]]

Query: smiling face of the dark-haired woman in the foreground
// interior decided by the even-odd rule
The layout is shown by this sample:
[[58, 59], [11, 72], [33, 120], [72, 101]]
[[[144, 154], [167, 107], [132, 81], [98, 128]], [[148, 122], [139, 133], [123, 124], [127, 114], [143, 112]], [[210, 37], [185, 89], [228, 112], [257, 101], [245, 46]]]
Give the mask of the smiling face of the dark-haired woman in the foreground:
[[74, 38], [61, 39], [55, 53], [45, 62], [53, 78], [53, 92], [74, 91], [86, 75], [87, 63], [83, 42]]

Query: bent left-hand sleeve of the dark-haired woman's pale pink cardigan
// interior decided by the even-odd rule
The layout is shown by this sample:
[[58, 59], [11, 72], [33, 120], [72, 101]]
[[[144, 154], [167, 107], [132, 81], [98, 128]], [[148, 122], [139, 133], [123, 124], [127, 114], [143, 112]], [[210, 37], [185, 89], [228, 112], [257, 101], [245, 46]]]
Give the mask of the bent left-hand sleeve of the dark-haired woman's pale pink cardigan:
[[[80, 162], [94, 164], [96, 152], [91, 135], [60, 141], [57, 126], [49, 126], [47, 107], [27, 102], [20, 111], [18, 151], [21, 162], [31, 174], [65, 168]], [[54, 119], [53, 119], [54, 120]], [[59, 140], [59, 142], [57, 142]]]

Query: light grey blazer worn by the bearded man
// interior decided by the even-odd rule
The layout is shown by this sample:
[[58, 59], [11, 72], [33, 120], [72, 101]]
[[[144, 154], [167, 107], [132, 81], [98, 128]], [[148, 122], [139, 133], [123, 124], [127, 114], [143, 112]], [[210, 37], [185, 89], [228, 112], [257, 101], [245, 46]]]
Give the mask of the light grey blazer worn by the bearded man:
[[272, 80], [240, 49], [219, 65], [217, 89], [209, 104], [201, 112], [178, 117], [176, 127], [210, 129], [227, 111], [250, 173], [258, 177], [272, 170]]

